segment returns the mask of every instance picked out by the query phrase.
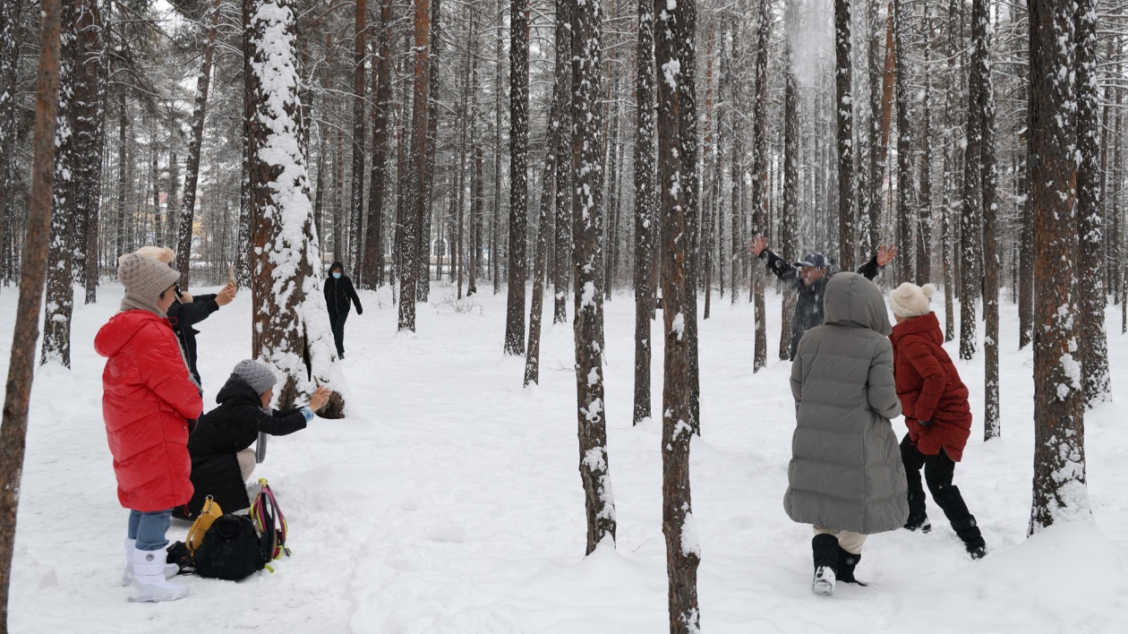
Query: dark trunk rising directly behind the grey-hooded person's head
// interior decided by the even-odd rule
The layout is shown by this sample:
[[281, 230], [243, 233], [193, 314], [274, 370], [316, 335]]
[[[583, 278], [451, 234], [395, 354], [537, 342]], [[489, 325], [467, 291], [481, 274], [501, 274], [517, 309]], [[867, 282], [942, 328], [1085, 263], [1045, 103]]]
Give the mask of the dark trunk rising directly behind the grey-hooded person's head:
[[854, 96], [851, 0], [835, 0], [835, 113], [838, 157], [838, 262], [854, 268]]

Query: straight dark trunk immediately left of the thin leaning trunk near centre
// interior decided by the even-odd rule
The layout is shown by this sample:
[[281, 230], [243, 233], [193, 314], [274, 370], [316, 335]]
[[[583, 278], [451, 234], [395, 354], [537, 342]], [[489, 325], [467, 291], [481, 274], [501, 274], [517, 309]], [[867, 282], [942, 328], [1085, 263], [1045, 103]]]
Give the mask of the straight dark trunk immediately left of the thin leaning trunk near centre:
[[509, 296], [505, 354], [525, 354], [525, 241], [529, 204], [529, 3], [510, 1]]

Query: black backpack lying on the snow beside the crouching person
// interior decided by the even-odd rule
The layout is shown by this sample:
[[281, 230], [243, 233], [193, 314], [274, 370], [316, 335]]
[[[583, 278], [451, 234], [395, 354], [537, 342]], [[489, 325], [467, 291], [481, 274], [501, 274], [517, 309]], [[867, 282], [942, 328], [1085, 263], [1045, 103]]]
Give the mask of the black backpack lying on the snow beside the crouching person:
[[196, 548], [200, 576], [239, 581], [263, 570], [271, 561], [273, 540], [262, 539], [247, 516], [228, 513], [212, 522]]

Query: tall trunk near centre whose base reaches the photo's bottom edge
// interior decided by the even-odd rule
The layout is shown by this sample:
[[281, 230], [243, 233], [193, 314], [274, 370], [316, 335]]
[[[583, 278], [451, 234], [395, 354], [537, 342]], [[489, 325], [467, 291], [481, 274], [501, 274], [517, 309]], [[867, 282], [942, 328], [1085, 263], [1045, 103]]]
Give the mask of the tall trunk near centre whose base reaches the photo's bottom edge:
[[[694, 333], [687, 328], [687, 303], [694, 301], [687, 259], [693, 228], [686, 208], [687, 187], [681, 97], [686, 77], [680, 60], [691, 45], [694, 21], [690, 3], [670, 8], [655, 0], [654, 52], [658, 82], [658, 173], [662, 213], [662, 334], [664, 337], [662, 387], [662, 534], [666, 536], [666, 570], [671, 633], [699, 631], [697, 566], [700, 549], [693, 529], [689, 491], [689, 444], [697, 429], [690, 390]], [[666, 60], [666, 61], [663, 61]], [[693, 86], [689, 86], [689, 90]]]

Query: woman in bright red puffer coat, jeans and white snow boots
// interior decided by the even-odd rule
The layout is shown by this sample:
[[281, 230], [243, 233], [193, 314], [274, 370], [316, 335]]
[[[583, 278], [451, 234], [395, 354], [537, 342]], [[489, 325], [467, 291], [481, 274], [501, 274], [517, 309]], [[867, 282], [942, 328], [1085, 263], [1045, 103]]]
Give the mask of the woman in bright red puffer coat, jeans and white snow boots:
[[165, 532], [173, 507], [192, 497], [188, 422], [200, 417], [203, 399], [165, 318], [179, 274], [136, 253], [117, 264], [125, 297], [94, 347], [107, 358], [102, 415], [117, 500], [130, 509], [122, 582], [136, 588], [132, 601], [170, 601], [188, 589], [166, 579], [176, 566], [166, 565]]

